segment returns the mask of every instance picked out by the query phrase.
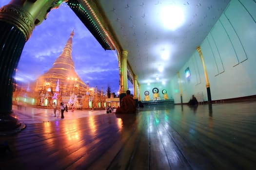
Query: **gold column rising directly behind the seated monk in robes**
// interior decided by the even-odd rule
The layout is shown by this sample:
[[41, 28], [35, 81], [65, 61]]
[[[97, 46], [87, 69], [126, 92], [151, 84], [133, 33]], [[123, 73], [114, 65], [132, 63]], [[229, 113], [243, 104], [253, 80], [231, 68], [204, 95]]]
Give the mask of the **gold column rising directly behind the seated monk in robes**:
[[120, 103], [121, 103], [122, 98], [124, 96], [126, 96], [126, 90], [128, 89], [127, 55], [128, 55], [128, 51], [122, 51], [122, 56], [121, 56], [121, 75], [120, 75], [120, 90], [119, 90]]

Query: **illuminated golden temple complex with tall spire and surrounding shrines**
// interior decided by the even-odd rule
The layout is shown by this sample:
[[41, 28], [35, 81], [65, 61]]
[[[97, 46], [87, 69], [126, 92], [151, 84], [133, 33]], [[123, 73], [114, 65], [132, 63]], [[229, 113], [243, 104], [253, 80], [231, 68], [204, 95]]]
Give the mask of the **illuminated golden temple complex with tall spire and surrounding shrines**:
[[72, 59], [72, 38], [74, 31], [52, 68], [27, 86], [17, 88], [14, 92], [13, 102], [51, 106], [53, 102], [63, 102], [75, 108], [104, 108], [106, 105], [103, 89], [89, 87], [75, 71]]

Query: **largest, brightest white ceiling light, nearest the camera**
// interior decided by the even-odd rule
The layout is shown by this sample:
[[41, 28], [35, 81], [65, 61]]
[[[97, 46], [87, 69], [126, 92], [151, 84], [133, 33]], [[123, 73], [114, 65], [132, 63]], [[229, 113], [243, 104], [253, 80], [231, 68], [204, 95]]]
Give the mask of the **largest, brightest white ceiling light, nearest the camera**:
[[161, 19], [166, 28], [175, 31], [183, 23], [184, 13], [178, 6], [165, 6], [161, 10]]

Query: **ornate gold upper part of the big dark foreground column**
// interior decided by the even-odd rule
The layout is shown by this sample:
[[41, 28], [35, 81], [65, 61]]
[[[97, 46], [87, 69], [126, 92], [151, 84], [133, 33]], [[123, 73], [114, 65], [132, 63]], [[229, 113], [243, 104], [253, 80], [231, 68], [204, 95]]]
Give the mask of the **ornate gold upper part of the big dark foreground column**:
[[58, 8], [65, 0], [12, 0], [0, 8], [0, 21], [15, 25], [30, 38], [35, 25], [39, 25], [53, 8]]

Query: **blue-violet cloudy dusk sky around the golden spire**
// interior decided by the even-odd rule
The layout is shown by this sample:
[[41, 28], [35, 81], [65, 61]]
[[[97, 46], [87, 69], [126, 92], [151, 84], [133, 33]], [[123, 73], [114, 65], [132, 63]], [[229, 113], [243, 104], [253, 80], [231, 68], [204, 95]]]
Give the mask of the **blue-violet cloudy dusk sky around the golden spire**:
[[[0, 0], [0, 6], [9, 1]], [[119, 73], [115, 51], [105, 51], [66, 3], [52, 10], [47, 19], [35, 27], [22, 51], [17, 81], [32, 82], [51, 68], [73, 29], [72, 58], [81, 80], [90, 87], [103, 87], [104, 92], [109, 85], [111, 92], [117, 94]], [[128, 85], [133, 91], [129, 81]]]

